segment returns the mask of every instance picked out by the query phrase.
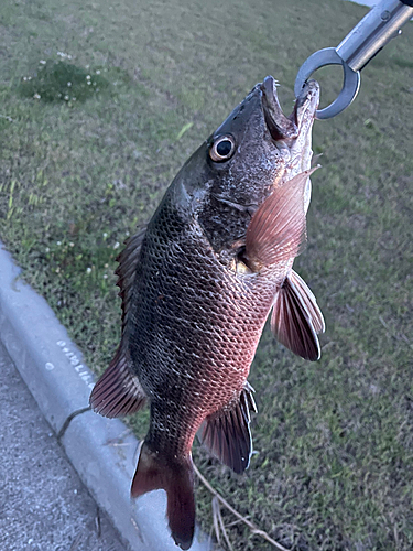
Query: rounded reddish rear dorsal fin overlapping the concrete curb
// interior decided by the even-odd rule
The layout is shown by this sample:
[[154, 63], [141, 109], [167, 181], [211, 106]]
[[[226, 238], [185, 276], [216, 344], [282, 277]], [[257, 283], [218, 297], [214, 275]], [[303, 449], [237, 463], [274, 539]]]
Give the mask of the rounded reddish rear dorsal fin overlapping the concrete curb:
[[145, 401], [138, 377], [129, 371], [124, 354], [119, 349], [91, 391], [91, 408], [101, 415], [113, 418], [135, 413]]

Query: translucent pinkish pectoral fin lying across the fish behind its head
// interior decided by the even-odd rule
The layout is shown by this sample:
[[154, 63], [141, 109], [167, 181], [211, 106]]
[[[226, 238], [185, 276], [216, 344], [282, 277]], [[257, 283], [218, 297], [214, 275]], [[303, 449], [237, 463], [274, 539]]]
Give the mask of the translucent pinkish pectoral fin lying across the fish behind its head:
[[295, 258], [306, 238], [304, 190], [316, 169], [278, 187], [253, 214], [247, 229], [246, 256], [259, 269]]

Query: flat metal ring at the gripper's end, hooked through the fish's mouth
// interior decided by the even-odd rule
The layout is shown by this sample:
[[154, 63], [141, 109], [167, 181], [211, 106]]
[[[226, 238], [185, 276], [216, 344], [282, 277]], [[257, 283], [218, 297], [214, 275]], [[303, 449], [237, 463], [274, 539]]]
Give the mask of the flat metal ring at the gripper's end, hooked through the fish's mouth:
[[294, 85], [295, 97], [298, 97], [308, 77], [325, 65], [343, 65], [344, 83], [337, 99], [324, 109], [316, 111], [317, 119], [330, 119], [344, 111], [355, 99], [360, 88], [360, 72], [352, 71], [338, 55], [335, 47], [325, 47], [311, 55], [300, 67]]

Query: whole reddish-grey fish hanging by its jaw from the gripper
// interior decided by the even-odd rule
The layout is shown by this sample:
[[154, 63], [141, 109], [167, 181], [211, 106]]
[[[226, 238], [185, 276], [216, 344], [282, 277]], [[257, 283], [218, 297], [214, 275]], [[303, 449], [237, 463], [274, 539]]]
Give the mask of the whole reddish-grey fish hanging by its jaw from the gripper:
[[306, 242], [309, 80], [286, 117], [272, 76], [256, 85], [185, 162], [146, 226], [118, 257], [122, 332], [90, 395], [108, 418], [150, 406], [131, 496], [164, 489], [175, 544], [195, 528], [196, 435], [225, 465], [249, 466], [248, 375], [267, 318], [276, 339], [316, 360], [323, 314], [293, 270]]

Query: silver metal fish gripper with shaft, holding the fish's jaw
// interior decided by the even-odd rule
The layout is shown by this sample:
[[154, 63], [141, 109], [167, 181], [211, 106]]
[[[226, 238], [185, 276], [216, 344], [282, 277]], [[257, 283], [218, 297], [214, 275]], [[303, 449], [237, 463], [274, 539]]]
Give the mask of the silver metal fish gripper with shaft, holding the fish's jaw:
[[335, 117], [351, 104], [360, 88], [360, 71], [391, 39], [401, 34], [401, 26], [413, 17], [412, 3], [412, 0], [382, 0], [337, 47], [319, 50], [303, 63], [294, 85], [296, 97], [315, 71], [325, 65], [343, 65], [341, 91], [333, 104], [317, 110], [317, 119]]

